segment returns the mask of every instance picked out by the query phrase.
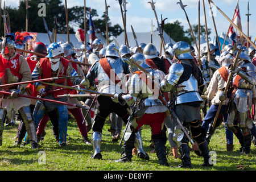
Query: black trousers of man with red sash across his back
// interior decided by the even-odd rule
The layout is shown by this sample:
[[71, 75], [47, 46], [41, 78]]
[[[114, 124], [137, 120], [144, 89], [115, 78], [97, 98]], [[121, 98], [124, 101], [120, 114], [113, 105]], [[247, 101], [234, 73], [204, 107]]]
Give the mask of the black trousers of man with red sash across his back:
[[128, 106], [122, 106], [119, 103], [113, 102], [112, 98], [106, 96], [98, 96], [97, 104], [96, 104], [96, 113], [94, 117], [94, 124], [92, 127], [93, 131], [100, 131], [102, 133], [102, 128], [104, 127], [104, 123], [106, 117], [110, 113], [115, 113], [119, 117], [122, 118], [123, 122], [126, 124], [127, 119], [130, 114], [127, 111]]

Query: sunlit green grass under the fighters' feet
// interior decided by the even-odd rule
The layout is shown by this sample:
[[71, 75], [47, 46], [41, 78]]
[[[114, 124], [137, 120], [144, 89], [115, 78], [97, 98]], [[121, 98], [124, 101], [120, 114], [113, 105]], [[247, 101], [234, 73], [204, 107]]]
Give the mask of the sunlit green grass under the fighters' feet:
[[[113, 143], [108, 132], [110, 123], [105, 122], [101, 145], [102, 160], [90, 159], [93, 146], [82, 143], [82, 137], [74, 118], [69, 119], [67, 147], [59, 147], [52, 134], [51, 122], [47, 123], [46, 137], [39, 143], [39, 148], [31, 149], [28, 144], [25, 147], [13, 147], [13, 138], [17, 132], [16, 127], [5, 127], [3, 131], [3, 144], [0, 147], [0, 171], [255, 171], [256, 170], [256, 147], [251, 144], [249, 156], [238, 154], [239, 143], [234, 137], [234, 151], [226, 151], [226, 139], [224, 125], [221, 125], [214, 133], [210, 147], [216, 152], [216, 164], [211, 168], [200, 167], [203, 158], [191, 152], [192, 169], [181, 169], [177, 166], [181, 160], [174, 159], [171, 154], [170, 144], [169, 163], [175, 168], [160, 166], [156, 154], [150, 154], [151, 132], [149, 126], [143, 126], [142, 137], [144, 150], [150, 155], [150, 160], [144, 161], [133, 157], [131, 163], [115, 163], [115, 159], [121, 156], [122, 148], [119, 142]], [[91, 134], [89, 138], [91, 139]], [[39, 155], [43, 152], [45, 155]], [[45, 164], [40, 164], [38, 159], [45, 156]], [[238, 168], [238, 165], [242, 166]]]

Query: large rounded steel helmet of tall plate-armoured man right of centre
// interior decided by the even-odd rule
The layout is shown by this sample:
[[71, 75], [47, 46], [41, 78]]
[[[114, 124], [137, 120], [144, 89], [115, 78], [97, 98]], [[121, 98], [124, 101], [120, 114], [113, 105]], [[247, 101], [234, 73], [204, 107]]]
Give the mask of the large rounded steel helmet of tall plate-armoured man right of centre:
[[193, 59], [190, 54], [190, 45], [187, 42], [177, 42], [174, 44], [172, 49], [174, 49], [174, 55], [177, 57], [177, 59]]

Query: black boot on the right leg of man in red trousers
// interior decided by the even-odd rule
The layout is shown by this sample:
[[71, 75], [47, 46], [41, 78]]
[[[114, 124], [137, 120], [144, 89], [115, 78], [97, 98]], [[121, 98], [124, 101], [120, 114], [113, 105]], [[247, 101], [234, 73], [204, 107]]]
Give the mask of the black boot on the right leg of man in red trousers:
[[155, 139], [154, 142], [159, 164], [161, 166], [169, 166], [166, 158], [166, 145], [164, 144], [163, 139]]

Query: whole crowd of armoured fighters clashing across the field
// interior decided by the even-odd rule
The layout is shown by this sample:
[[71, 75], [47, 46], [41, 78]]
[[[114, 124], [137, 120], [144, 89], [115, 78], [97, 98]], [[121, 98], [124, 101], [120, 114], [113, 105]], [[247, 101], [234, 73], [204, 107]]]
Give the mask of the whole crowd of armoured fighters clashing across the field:
[[[233, 151], [233, 135], [240, 142], [241, 154], [250, 154], [251, 142], [255, 145], [253, 47], [229, 44], [216, 56], [218, 48], [209, 44], [209, 54], [204, 47], [198, 59], [195, 49], [183, 41], [167, 43], [165, 56], [160, 56], [152, 43], [118, 47], [114, 43], [104, 45], [100, 39], [91, 45], [82, 44], [77, 53], [72, 43], [51, 43], [47, 47], [37, 42], [32, 49], [35, 54], [25, 55], [16, 50], [24, 49], [16, 35], [6, 35], [1, 44], [1, 145], [4, 123], [15, 123], [16, 114], [21, 120], [16, 146], [30, 143], [32, 148], [38, 148], [44, 128], [51, 121], [53, 135], [64, 147], [68, 112], [76, 119], [82, 141], [92, 144], [93, 159], [102, 159], [102, 129], [108, 117], [113, 142], [121, 136], [124, 142], [121, 158], [115, 162], [131, 162], [134, 154], [144, 160], [150, 158], [143, 150], [143, 125], [151, 127], [152, 152], [164, 166], [170, 166], [167, 141], [174, 158], [181, 159], [179, 167], [192, 167], [191, 151], [203, 156], [201, 166], [213, 166], [209, 142], [222, 122], [226, 150]], [[85, 61], [90, 66], [78, 64]], [[224, 92], [226, 87], [228, 92]], [[96, 94], [85, 97], [86, 90]], [[213, 123], [219, 106], [217, 121]]]

